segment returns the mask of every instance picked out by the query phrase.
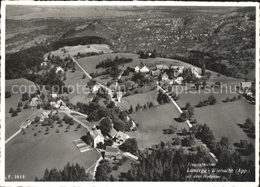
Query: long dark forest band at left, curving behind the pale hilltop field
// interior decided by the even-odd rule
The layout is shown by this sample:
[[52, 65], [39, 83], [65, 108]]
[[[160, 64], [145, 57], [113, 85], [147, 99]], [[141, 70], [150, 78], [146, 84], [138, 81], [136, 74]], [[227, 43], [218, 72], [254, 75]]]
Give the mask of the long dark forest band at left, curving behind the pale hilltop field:
[[27, 70], [39, 66], [43, 62], [43, 55], [64, 46], [77, 46], [88, 44], [107, 44], [105, 38], [98, 36], [85, 36], [58, 40], [47, 46], [36, 46], [24, 50], [7, 53], [5, 56], [5, 79], [26, 78]]

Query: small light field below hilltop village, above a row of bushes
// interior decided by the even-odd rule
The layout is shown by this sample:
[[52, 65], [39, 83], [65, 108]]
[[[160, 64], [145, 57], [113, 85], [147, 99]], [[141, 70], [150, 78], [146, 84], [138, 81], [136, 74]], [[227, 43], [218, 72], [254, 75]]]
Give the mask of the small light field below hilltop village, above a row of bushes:
[[122, 97], [121, 102], [118, 104], [120, 104], [120, 106], [125, 110], [128, 110], [130, 105], [132, 105], [135, 110], [138, 103], [143, 106], [144, 104], [147, 105], [147, 102], [153, 102], [154, 106], [159, 105], [157, 102], [157, 90], [153, 90], [145, 94], [133, 94]]

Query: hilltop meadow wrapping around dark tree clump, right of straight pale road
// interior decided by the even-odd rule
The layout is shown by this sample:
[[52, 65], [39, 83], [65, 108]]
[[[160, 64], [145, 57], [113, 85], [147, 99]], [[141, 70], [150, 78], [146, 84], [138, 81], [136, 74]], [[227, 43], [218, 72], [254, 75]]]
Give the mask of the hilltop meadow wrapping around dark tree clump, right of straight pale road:
[[75, 59], [80, 66], [87, 71], [88, 73], [92, 72], [101, 72], [104, 71], [104, 69], [99, 68], [96, 69], [96, 65], [99, 64], [102, 61], [105, 61], [107, 58], [114, 60], [118, 56], [119, 58], [133, 58], [133, 62], [127, 63], [124, 65], [119, 66], [118, 68], [120, 70], [125, 69], [126, 67], [131, 67], [131, 66], [136, 66], [140, 64], [140, 59], [138, 58], [137, 54], [131, 54], [131, 53], [107, 53], [107, 54], [102, 54], [98, 56], [90, 56], [90, 57], [84, 57], [84, 58], [79, 58]]

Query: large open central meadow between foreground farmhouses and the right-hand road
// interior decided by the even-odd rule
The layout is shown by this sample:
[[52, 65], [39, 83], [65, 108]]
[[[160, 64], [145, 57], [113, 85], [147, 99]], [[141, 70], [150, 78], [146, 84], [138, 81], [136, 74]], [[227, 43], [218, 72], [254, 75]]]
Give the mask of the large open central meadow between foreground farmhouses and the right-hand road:
[[180, 113], [172, 103], [133, 113], [130, 117], [139, 123], [138, 130], [129, 133], [130, 137], [138, 140], [139, 147], [141, 147], [143, 139], [143, 148], [178, 136], [176, 133], [163, 134], [163, 129], [168, 129], [169, 125], [177, 125], [178, 130], [184, 127], [188, 129], [186, 122], [177, 123], [174, 120], [175, 117], [180, 117]]

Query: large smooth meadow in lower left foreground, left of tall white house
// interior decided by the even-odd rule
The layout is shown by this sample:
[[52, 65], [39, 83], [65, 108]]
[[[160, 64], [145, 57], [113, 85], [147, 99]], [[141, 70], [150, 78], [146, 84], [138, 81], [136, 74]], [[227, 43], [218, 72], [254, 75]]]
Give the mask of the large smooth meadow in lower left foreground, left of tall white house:
[[[62, 117], [62, 114], [59, 114]], [[30, 125], [25, 129], [25, 135], [21, 133], [5, 145], [5, 173], [14, 175], [24, 174], [23, 181], [34, 181], [35, 177], [43, 176], [44, 169], [56, 167], [62, 169], [68, 162], [79, 163], [85, 169], [90, 167], [100, 158], [100, 153], [90, 150], [80, 153], [73, 140], [84, 138], [86, 129], [81, 127], [74, 131], [76, 124], [71, 126], [69, 132], [64, 132], [66, 124], [54, 128], [49, 127], [49, 134], [44, 135], [45, 127]], [[56, 133], [56, 129], [60, 132]], [[34, 130], [32, 130], [34, 129]], [[37, 136], [33, 136], [38, 132]], [[14, 179], [13, 179], [14, 180]]]

